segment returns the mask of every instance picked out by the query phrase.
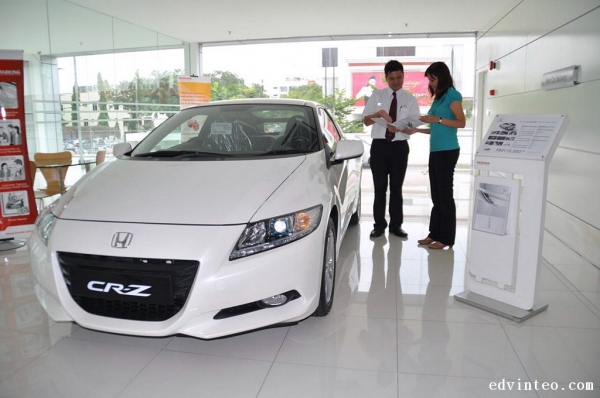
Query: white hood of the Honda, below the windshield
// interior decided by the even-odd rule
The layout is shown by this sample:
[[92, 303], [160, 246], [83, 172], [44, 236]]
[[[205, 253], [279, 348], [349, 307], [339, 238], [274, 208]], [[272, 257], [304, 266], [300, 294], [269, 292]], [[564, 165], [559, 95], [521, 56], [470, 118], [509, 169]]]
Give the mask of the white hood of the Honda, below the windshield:
[[88, 173], [57, 208], [71, 220], [244, 224], [305, 159], [116, 159]]

